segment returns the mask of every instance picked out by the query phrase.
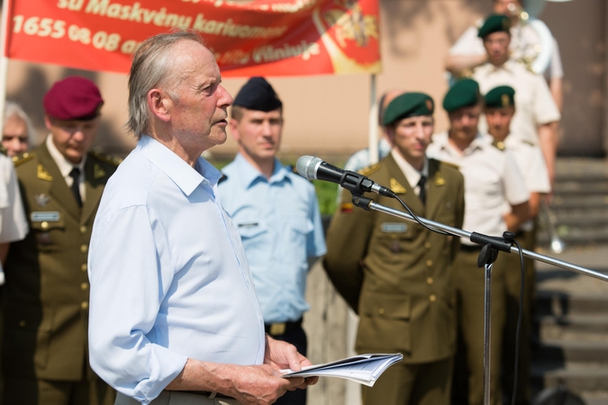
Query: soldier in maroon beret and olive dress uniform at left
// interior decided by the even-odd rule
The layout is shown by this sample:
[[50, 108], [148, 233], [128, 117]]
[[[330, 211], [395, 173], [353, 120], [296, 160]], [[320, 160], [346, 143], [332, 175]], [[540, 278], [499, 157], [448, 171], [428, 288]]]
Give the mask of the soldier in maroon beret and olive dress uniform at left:
[[103, 103], [84, 77], [57, 82], [43, 101], [50, 135], [15, 162], [30, 233], [6, 259], [5, 404], [113, 403], [87, 339], [91, 226], [117, 166], [89, 151]]

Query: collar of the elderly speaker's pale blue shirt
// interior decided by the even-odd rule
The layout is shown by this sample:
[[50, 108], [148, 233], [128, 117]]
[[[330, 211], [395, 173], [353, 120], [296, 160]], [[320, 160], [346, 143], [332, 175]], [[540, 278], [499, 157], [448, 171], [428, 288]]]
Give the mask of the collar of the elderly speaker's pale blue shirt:
[[148, 135], [141, 136], [135, 150], [159, 167], [186, 195], [193, 193], [201, 183], [213, 187], [222, 176], [220, 171], [203, 157], [198, 157], [195, 167], [192, 167], [171, 149]]

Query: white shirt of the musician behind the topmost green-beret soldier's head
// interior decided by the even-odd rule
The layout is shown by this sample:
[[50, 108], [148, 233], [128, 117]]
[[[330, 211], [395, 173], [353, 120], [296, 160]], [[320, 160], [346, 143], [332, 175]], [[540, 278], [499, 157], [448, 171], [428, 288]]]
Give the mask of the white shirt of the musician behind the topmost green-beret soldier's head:
[[[480, 20], [479, 24], [483, 24]], [[483, 55], [485, 54], [484, 40], [477, 36], [479, 28], [470, 26], [467, 28], [454, 46], [449, 49], [449, 55]], [[534, 58], [537, 54], [534, 49], [535, 45], [540, 44], [540, 36], [530, 25], [516, 25], [511, 28], [511, 58], [517, 60], [519, 58]], [[551, 59], [549, 67], [544, 73], [547, 80], [553, 78], [564, 77], [564, 68], [561, 64], [561, 56], [559, 55], [558, 41], [553, 38], [553, 49], [551, 50]]]

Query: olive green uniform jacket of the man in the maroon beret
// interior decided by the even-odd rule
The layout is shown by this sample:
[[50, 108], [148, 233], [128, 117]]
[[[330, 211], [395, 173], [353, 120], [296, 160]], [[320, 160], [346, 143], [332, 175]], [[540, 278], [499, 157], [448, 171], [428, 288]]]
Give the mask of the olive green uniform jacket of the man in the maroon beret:
[[82, 209], [46, 144], [15, 162], [30, 233], [11, 244], [5, 265], [5, 375], [59, 381], [95, 378], [88, 365], [91, 227], [111, 158], [86, 157]]

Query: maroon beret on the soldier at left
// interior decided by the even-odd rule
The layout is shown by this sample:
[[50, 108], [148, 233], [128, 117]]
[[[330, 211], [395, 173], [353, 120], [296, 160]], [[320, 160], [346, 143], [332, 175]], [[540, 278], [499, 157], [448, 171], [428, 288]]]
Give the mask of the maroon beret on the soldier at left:
[[99, 89], [89, 79], [71, 76], [55, 83], [42, 101], [44, 111], [58, 120], [93, 120], [104, 104]]

